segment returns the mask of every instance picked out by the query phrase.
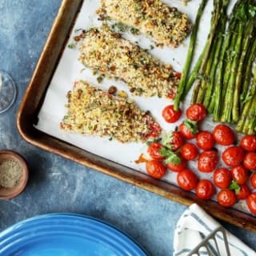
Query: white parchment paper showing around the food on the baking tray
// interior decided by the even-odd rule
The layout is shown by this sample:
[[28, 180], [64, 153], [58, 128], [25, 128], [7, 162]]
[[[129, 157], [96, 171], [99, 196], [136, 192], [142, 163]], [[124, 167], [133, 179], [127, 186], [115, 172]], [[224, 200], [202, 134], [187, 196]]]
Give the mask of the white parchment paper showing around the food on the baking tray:
[[[186, 12], [189, 15], [190, 20], [194, 23], [194, 18], [198, 10], [198, 6], [201, 0], [193, 0], [188, 2], [187, 6], [184, 6], [182, 1], [163, 1], [169, 6], [176, 6], [178, 10]], [[234, 1], [233, 1], [234, 2]], [[231, 7], [232, 5], [230, 5]], [[74, 43], [74, 35], [78, 34], [78, 30], [88, 30], [91, 27], [100, 26], [101, 22], [98, 21], [98, 16], [95, 14], [95, 10], [99, 7], [99, 1], [85, 0], [82, 4], [82, 9], [78, 14], [78, 18], [74, 24], [74, 29], [70, 34], [70, 40], [67, 42], [66, 47], [63, 51], [62, 58], [57, 66], [54, 73], [54, 77], [50, 82], [50, 86], [46, 92], [46, 97], [42, 104], [42, 108], [38, 114], [38, 124], [35, 126], [38, 130], [50, 134], [55, 138], [59, 138], [62, 141], [69, 142], [74, 146], [78, 146], [83, 150], [87, 150], [91, 153], [97, 154], [103, 158], [128, 166], [134, 170], [138, 170], [142, 173], [146, 173], [145, 164], [136, 164], [134, 161], [138, 159], [139, 155], [146, 153], [146, 143], [126, 143], [123, 144], [116, 140], [110, 141], [109, 138], [99, 138], [96, 136], [83, 136], [81, 134], [68, 134], [63, 130], [59, 129], [59, 123], [62, 121], [63, 116], [66, 114], [66, 93], [72, 90], [74, 81], [78, 79], [84, 79], [94, 86], [98, 86], [103, 90], [107, 90], [111, 85], [118, 87], [118, 90], [125, 90], [129, 95], [129, 98], [133, 98], [142, 110], [150, 110], [156, 121], [162, 126], [162, 129], [166, 132], [174, 130], [183, 118], [180, 118], [179, 122], [175, 124], [168, 124], [162, 118], [162, 109], [171, 104], [170, 100], [164, 98], [144, 98], [134, 97], [127, 90], [126, 84], [118, 82], [113, 79], [104, 78], [104, 80], [98, 84], [97, 75], [94, 76], [92, 71], [85, 68], [78, 61], [79, 51], [78, 47], [70, 49], [68, 45]], [[213, 9], [213, 1], [209, 1], [206, 6], [206, 10], [202, 16], [201, 26], [198, 32], [197, 50], [195, 51], [194, 60], [197, 59], [198, 54], [206, 42], [206, 37], [210, 27], [210, 13]], [[158, 48], [154, 46], [151, 50], [150, 46], [154, 45], [154, 42], [150, 38], [146, 38], [142, 35], [135, 36], [134, 34], [124, 33], [124, 38], [129, 39], [132, 42], [138, 42], [138, 45], [143, 49], [148, 49], [150, 54], [154, 57], [159, 58], [162, 62], [170, 63], [174, 70], [182, 72], [182, 66], [186, 60], [186, 52], [190, 38], [182, 43], [178, 48], [172, 49], [170, 47]], [[190, 96], [187, 97], [185, 105], [189, 105]], [[184, 106], [183, 106], [184, 107]], [[213, 130], [213, 124], [210, 120], [204, 122], [202, 129]], [[196, 170], [196, 162], [190, 162], [190, 168]], [[219, 166], [222, 165], [220, 162]], [[200, 178], [212, 178], [212, 174], [198, 173]], [[170, 182], [171, 184], [177, 185], [176, 173], [167, 172], [163, 180]], [[211, 175], [209, 177], [209, 175]], [[214, 197], [216, 200], [216, 198]], [[246, 211], [246, 207], [243, 202], [239, 202], [235, 208]]]

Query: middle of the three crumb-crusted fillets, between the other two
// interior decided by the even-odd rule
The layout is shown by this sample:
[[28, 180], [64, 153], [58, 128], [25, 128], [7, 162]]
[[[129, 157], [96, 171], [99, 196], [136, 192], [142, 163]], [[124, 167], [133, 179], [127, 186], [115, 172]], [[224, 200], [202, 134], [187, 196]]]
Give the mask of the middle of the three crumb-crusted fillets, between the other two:
[[[120, 2], [122, 4], [122, 1]], [[83, 34], [79, 60], [98, 74], [126, 82], [134, 95], [174, 98], [180, 74], [103, 25]]]

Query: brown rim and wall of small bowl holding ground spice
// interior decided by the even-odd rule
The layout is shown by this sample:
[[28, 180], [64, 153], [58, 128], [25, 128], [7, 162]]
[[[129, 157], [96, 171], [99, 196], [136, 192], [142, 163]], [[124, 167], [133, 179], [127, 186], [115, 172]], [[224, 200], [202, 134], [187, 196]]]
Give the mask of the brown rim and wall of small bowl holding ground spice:
[[0, 150], [0, 164], [8, 160], [18, 162], [18, 164], [22, 167], [22, 174], [14, 186], [0, 186], [0, 199], [10, 199], [18, 196], [18, 194], [21, 194], [26, 187], [29, 176], [26, 160], [22, 158], [20, 154], [14, 152], [13, 150]]

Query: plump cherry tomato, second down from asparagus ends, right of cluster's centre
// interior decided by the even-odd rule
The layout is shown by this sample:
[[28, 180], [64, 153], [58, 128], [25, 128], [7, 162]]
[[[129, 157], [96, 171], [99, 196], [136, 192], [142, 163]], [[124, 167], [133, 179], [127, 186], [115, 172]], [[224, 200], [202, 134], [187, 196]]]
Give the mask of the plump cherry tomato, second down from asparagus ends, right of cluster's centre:
[[226, 166], [239, 166], [243, 158], [244, 152], [240, 146], [230, 146], [222, 153]]

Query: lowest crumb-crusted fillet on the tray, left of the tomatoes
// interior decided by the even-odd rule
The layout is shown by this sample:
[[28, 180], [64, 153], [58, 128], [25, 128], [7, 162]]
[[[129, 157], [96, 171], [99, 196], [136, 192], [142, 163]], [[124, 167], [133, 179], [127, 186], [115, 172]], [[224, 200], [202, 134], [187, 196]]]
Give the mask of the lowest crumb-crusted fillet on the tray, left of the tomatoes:
[[60, 127], [67, 132], [107, 136], [119, 142], [146, 142], [158, 138], [161, 128], [149, 111], [134, 102], [99, 90], [88, 82], [74, 82], [67, 94], [67, 113]]

